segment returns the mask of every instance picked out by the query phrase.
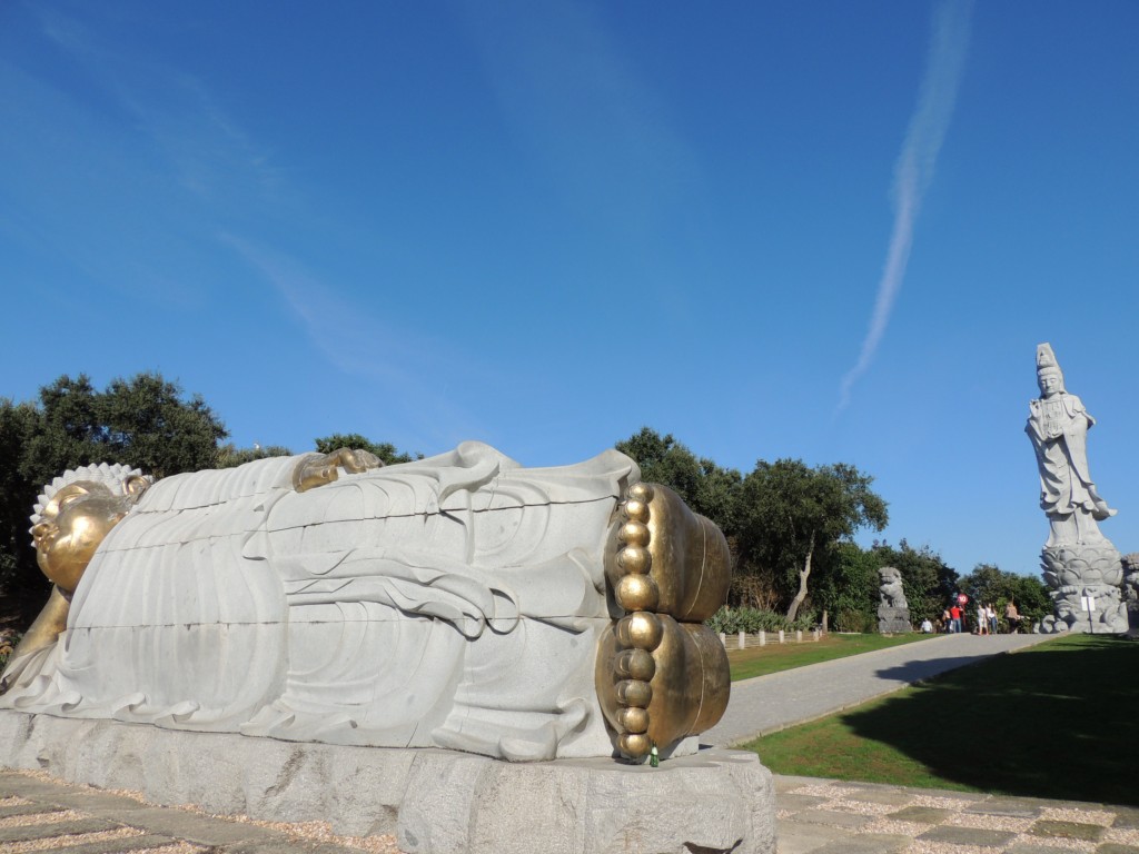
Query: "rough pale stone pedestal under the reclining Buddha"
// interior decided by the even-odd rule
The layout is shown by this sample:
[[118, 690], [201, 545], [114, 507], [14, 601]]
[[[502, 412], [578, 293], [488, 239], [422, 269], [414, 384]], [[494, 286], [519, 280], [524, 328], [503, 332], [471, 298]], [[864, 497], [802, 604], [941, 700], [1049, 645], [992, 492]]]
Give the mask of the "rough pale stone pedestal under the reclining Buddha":
[[771, 772], [712, 749], [658, 769], [507, 763], [0, 711], [0, 766], [219, 814], [395, 834], [418, 854], [773, 854]]

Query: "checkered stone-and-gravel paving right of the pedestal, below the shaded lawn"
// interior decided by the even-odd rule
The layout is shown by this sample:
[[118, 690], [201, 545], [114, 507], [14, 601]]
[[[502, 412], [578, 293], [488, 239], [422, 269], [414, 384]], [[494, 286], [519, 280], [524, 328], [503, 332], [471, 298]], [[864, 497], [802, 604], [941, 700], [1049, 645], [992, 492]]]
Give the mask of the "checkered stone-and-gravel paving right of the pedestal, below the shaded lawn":
[[1139, 810], [776, 775], [779, 854], [1139, 854]]

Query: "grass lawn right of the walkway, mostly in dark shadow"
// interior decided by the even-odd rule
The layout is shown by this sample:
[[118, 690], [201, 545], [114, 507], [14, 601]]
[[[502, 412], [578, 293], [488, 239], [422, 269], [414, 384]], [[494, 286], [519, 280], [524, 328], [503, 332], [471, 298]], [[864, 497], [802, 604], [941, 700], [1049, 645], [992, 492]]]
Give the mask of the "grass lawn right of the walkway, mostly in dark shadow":
[[752, 741], [772, 771], [1139, 805], [1139, 641], [1060, 637]]

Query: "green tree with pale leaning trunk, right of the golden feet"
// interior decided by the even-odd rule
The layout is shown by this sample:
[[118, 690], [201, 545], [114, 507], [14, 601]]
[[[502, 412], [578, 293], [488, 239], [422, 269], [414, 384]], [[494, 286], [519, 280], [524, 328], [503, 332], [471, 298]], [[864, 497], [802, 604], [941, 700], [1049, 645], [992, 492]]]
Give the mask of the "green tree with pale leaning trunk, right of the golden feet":
[[808, 467], [802, 460], [760, 460], [744, 478], [739, 528], [743, 561], [773, 568], [797, 590], [787, 607], [795, 619], [809, 592], [816, 561], [829, 563], [841, 541], [862, 527], [882, 531], [886, 502], [874, 478], [838, 462]]

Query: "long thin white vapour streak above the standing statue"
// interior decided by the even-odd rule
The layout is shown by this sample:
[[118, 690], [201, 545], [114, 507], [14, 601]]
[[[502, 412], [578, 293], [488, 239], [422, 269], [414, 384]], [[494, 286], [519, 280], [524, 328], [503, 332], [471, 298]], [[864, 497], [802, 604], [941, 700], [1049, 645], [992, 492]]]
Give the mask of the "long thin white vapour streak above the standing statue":
[[906, 277], [921, 197], [933, 180], [937, 153], [957, 100], [969, 40], [970, 8], [972, 0], [947, 0], [934, 14], [929, 57], [917, 109], [910, 118], [902, 151], [894, 166], [894, 228], [890, 236], [886, 264], [878, 281], [878, 296], [858, 363], [843, 377], [839, 411], [850, 403], [854, 383], [874, 361]]

